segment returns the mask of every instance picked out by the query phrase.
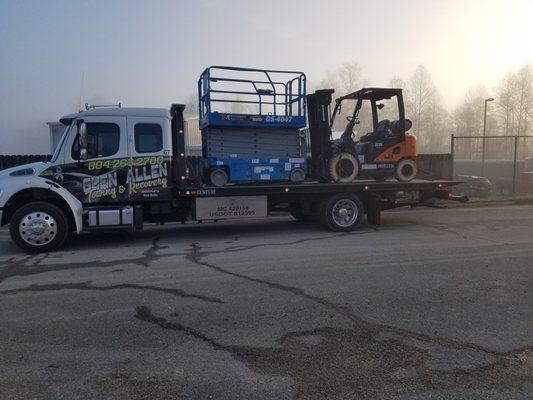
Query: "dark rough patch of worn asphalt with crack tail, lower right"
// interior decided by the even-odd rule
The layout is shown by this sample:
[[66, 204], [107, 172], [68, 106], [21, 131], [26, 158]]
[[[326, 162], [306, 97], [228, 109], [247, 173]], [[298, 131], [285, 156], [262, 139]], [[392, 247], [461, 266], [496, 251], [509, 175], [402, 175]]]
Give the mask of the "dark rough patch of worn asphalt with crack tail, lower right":
[[[228, 352], [259, 374], [290, 377], [296, 399], [391, 398], [458, 388], [508, 395], [521, 393], [533, 376], [532, 348], [488, 359], [466, 352], [453, 360], [454, 349], [383, 340], [373, 329], [331, 327], [289, 332], [274, 347], [226, 345], [193, 327], [155, 315], [144, 305], [136, 307], [134, 317]], [[451, 365], [446, 364], [449, 359]]]

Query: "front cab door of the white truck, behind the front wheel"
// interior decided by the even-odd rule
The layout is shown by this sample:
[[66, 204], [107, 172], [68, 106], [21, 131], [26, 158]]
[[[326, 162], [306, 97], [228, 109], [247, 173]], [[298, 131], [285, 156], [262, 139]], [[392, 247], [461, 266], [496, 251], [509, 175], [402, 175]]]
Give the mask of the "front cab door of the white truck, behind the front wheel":
[[131, 157], [126, 117], [84, 116], [87, 159], [80, 160], [76, 128], [63, 146], [64, 164], [52, 168], [53, 179], [82, 203], [128, 200]]

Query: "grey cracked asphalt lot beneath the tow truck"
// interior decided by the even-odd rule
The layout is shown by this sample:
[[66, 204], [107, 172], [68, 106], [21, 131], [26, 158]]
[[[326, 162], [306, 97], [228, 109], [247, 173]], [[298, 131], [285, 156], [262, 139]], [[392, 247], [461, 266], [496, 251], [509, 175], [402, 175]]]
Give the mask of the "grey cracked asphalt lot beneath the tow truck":
[[0, 231], [0, 398], [533, 398], [533, 206], [382, 222]]

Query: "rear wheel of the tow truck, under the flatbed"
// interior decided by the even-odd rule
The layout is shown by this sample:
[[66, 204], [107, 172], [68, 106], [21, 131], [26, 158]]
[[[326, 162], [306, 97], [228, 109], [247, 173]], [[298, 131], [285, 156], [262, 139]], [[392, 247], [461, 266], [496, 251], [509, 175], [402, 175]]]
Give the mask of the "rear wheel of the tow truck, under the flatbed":
[[358, 228], [365, 214], [361, 200], [349, 193], [325, 199], [319, 213], [322, 225], [337, 232], [348, 232]]

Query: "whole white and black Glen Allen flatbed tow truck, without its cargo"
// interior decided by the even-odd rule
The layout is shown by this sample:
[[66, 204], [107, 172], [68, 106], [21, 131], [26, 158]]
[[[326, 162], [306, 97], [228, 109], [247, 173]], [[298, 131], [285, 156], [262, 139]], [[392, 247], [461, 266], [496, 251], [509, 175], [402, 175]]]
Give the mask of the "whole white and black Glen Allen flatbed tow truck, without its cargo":
[[[244, 70], [267, 77], [270, 72]], [[281, 96], [283, 104], [290, 104], [291, 96]], [[0, 172], [0, 226], [10, 225], [11, 237], [22, 249], [49, 252], [61, 248], [72, 233], [137, 231], [146, 222], [263, 218], [288, 211], [297, 220], [351, 231], [365, 216], [369, 224], [380, 224], [382, 210], [428, 205], [434, 199], [466, 200], [450, 193], [459, 183], [454, 181], [335, 183], [313, 171], [298, 183], [215, 186], [205, 178], [205, 157], [186, 154], [184, 109], [180, 104], [169, 110], [89, 107], [63, 117], [66, 129], [50, 162]], [[263, 117], [238, 114], [241, 122], [243, 115], [251, 115], [254, 124]], [[272, 114], [265, 118], [272, 121]], [[289, 158], [286, 171], [292, 164], [301, 160]], [[261, 168], [272, 171], [272, 165]]]

